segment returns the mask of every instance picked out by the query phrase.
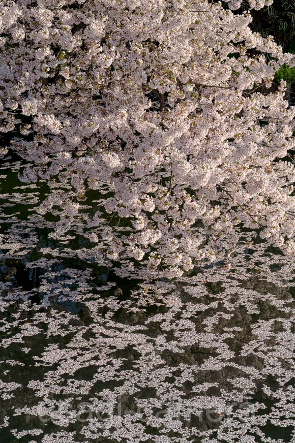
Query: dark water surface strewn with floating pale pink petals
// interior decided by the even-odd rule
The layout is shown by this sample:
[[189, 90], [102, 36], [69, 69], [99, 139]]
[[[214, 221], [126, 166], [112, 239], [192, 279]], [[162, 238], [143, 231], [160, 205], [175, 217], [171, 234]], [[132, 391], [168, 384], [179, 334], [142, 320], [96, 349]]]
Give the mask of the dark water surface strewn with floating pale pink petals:
[[[15, 190], [10, 204], [23, 211], [27, 192], [42, 198]], [[1, 213], [1, 442], [294, 441], [295, 263], [261, 244], [230, 270], [141, 284], [46, 259], [49, 222], [28, 206], [15, 227], [12, 209]]]

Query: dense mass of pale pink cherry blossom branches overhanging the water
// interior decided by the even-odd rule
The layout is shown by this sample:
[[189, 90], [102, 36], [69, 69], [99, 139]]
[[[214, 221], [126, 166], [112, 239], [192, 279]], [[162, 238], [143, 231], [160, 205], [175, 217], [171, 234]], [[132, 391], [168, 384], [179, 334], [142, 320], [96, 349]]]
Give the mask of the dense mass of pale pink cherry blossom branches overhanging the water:
[[256, 90], [295, 56], [238, 3], [2, 1], [0, 131], [80, 257], [173, 278], [230, 260], [245, 229], [295, 254], [295, 109], [284, 82]]

